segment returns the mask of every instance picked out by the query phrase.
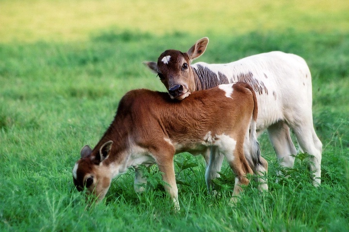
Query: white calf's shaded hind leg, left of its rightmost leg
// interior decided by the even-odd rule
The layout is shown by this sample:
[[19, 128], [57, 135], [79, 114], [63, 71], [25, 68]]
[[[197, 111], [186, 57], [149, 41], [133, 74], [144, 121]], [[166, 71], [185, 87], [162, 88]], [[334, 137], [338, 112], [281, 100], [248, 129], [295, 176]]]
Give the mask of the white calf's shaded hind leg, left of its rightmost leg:
[[271, 145], [274, 147], [280, 165], [292, 168], [297, 150], [290, 136], [290, 129], [284, 121], [279, 121], [268, 127]]

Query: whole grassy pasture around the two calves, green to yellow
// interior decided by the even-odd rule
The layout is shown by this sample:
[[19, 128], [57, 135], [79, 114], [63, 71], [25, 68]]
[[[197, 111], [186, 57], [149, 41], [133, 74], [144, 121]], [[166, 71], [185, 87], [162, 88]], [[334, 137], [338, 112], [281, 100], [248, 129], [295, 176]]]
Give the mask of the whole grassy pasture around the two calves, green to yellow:
[[[3, 0], [0, 2], [0, 231], [349, 231], [349, 2]], [[289, 178], [268, 136], [269, 191], [254, 180], [228, 205], [234, 176], [224, 163], [221, 194], [206, 193], [202, 157], [175, 158], [175, 213], [156, 167], [146, 191], [134, 172], [87, 204], [72, 168], [94, 146], [130, 89], [165, 91], [142, 64], [164, 50], [210, 39], [198, 61], [229, 62], [280, 50], [303, 57], [313, 78], [313, 118], [323, 143], [314, 188], [300, 154]], [[195, 61], [194, 61], [195, 62]]]

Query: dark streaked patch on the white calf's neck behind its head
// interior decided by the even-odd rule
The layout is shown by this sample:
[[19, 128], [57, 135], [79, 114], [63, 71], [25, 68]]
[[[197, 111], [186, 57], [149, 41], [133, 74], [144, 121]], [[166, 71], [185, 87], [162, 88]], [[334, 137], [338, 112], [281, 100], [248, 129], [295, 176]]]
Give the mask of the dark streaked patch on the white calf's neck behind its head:
[[198, 76], [199, 82], [196, 83], [196, 90], [208, 89], [216, 87], [222, 84], [229, 84], [228, 78], [221, 72], [218, 72], [218, 75], [212, 70], [203, 67], [201, 65], [196, 65], [193, 67], [194, 72]]

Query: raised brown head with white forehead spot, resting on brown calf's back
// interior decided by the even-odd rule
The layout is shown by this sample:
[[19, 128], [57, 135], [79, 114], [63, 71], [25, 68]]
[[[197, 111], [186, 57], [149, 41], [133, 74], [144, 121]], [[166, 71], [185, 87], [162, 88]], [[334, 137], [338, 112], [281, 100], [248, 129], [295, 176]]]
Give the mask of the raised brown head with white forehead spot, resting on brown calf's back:
[[190, 64], [206, 50], [208, 38], [198, 40], [186, 53], [178, 50], [166, 50], [158, 62], [144, 62], [158, 74], [172, 99], [182, 100], [195, 91], [195, 76]]

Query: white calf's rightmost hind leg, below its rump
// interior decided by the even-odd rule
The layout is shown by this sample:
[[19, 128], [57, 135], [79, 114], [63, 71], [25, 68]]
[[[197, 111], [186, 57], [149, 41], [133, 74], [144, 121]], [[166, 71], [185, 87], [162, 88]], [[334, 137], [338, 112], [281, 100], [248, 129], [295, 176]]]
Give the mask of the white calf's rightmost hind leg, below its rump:
[[297, 141], [301, 146], [303, 152], [311, 155], [309, 168], [314, 172], [313, 185], [319, 186], [321, 184], [321, 153], [322, 143], [315, 133], [312, 120], [304, 120], [292, 127], [295, 132]]

